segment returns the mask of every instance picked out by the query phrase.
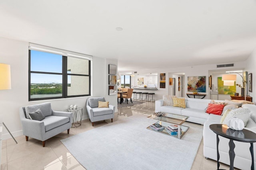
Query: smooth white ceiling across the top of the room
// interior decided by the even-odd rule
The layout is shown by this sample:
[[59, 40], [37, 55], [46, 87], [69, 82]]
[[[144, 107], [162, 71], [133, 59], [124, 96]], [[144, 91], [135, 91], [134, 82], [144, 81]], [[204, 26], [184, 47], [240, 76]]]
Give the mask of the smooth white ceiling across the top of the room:
[[119, 72], [221, 64], [256, 49], [256, 0], [0, 0], [0, 25], [0, 37], [117, 59]]

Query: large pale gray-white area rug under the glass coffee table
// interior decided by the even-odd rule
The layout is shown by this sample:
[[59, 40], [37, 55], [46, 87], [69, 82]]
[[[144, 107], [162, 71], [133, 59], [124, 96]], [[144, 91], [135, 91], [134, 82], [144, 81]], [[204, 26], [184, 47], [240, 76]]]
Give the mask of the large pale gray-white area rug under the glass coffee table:
[[190, 170], [203, 128], [190, 128], [182, 139], [146, 129], [156, 120], [133, 115], [62, 139], [87, 170]]

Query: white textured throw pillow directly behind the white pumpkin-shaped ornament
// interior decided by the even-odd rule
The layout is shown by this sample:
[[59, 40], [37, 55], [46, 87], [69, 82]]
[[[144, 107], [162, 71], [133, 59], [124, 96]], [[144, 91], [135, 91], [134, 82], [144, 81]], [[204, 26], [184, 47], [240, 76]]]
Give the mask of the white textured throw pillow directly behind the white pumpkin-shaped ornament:
[[227, 124], [228, 120], [231, 117], [237, 117], [239, 119], [242, 119], [244, 122], [244, 126], [246, 126], [247, 121], [250, 117], [250, 110], [249, 109], [244, 109], [244, 108], [238, 108], [238, 109], [233, 109], [230, 112], [227, 113], [226, 117], [224, 118], [222, 124]]

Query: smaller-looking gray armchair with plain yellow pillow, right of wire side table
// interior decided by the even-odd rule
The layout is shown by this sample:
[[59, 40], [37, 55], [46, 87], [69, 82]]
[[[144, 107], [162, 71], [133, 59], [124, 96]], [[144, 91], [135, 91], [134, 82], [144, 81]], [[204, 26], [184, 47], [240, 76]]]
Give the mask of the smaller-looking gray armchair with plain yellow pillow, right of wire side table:
[[92, 126], [94, 122], [111, 119], [113, 122], [115, 106], [108, 105], [108, 107], [98, 107], [98, 102], [106, 102], [104, 97], [100, 98], [88, 98], [86, 101], [86, 109]]

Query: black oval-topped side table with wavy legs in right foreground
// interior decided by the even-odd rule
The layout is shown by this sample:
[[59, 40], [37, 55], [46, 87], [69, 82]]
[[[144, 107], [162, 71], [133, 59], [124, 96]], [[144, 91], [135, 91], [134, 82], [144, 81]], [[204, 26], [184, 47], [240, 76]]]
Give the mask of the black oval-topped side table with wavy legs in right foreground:
[[256, 133], [252, 131], [248, 131], [247, 129], [243, 129], [241, 131], [236, 131], [233, 129], [228, 128], [227, 125], [222, 125], [222, 124], [212, 124], [210, 125], [210, 129], [216, 133], [216, 140], [217, 140], [217, 168], [220, 168], [220, 154], [219, 154], [219, 135], [229, 139], [229, 160], [230, 160], [230, 170], [234, 170], [234, 158], [235, 158], [235, 144], [234, 141], [239, 141], [239, 142], [246, 142], [250, 143], [250, 153], [252, 156], [252, 166], [251, 170], [254, 170], [254, 154], [253, 154], [253, 143], [256, 142]]

